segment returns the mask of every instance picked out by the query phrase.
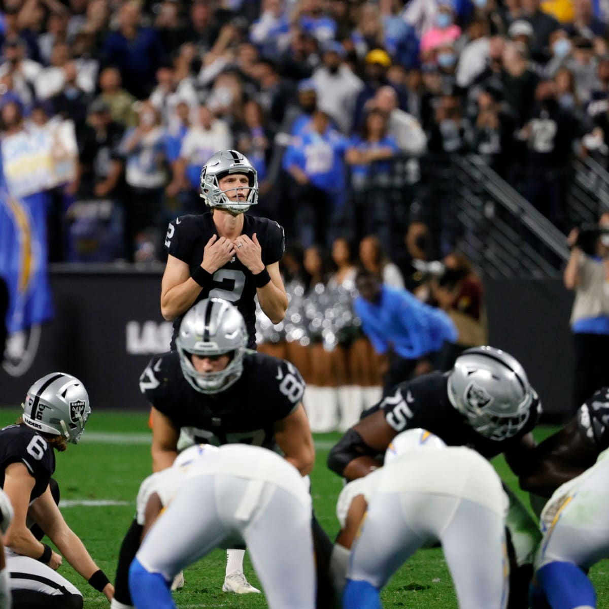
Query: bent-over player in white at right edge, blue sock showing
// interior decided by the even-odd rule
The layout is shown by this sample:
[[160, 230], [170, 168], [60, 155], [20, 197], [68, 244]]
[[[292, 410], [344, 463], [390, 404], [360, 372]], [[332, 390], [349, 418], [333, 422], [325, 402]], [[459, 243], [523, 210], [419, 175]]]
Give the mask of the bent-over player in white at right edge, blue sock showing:
[[609, 557], [609, 449], [565, 482], [541, 512], [543, 540], [535, 558], [533, 609], [592, 609], [596, 592], [586, 573]]

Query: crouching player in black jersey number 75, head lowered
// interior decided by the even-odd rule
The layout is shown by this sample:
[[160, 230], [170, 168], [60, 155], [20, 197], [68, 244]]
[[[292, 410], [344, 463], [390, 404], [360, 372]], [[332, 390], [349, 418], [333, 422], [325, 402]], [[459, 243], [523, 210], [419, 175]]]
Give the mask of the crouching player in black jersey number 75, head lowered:
[[[537, 393], [519, 362], [499, 349], [476, 347], [457, 357], [448, 373], [432, 372], [395, 385], [331, 449], [328, 467], [348, 481], [366, 476], [382, 465], [382, 455], [396, 434], [423, 428], [448, 446], [468, 446], [487, 459], [503, 453], [518, 476], [527, 471], [535, 448], [531, 431], [540, 414]], [[520, 568], [513, 569], [509, 607], [518, 607], [526, 602], [540, 536], [524, 507], [505, 490], [510, 496], [508, 527]]]

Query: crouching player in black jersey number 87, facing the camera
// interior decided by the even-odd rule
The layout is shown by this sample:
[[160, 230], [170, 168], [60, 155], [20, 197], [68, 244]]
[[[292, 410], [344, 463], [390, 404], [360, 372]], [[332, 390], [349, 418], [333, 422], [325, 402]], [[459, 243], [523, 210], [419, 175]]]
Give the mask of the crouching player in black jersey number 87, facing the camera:
[[[315, 449], [301, 402], [305, 382], [289, 362], [246, 345], [247, 329], [236, 307], [205, 298], [184, 316], [177, 351], [151, 359], [139, 387], [152, 404], [154, 471], [174, 463], [180, 431], [193, 443], [263, 446], [283, 453], [303, 476], [312, 470]], [[114, 607], [130, 605], [127, 570], [140, 536], [141, 527], [132, 526], [122, 544]], [[249, 586], [242, 566], [237, 574]], [[224, 591], [226, 586], [227, 580]]]

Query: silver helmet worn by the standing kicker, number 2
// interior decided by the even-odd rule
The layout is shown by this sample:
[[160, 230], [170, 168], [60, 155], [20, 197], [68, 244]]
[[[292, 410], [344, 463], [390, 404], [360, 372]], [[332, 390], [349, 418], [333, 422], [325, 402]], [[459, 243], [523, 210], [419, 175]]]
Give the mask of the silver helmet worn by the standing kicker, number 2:
[[[245, 200], [233, 201], [227, 197], [227, 192], [236, 191], [236, 188], [221, 190], [219, 180], [228, 174], [245, 174], [248, 178], [248, 194]], [[236, 150], [220, 150], [211, 157], [201, 170], [200, 197], [208, 207], [228, 209], [235, 214], [247, 211], [252, 205], [258, 203], [258, 172], [252, 163], [241, 152]]]

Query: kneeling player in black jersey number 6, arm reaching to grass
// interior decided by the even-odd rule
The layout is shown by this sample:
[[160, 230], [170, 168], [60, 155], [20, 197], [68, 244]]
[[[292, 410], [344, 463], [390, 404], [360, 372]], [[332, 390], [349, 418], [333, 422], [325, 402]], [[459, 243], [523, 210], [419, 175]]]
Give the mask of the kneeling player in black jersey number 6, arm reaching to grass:
[[[82, 594], [55, 572], [63, 558], [112, 599], [113, 586], [66, 524], [49, 486], [54, 450], [65, 451], [68, 442], [76, 444], [90, 414], [82, 382], [55, 372], [30, 387], [23, 416], [0, 431], [0, 485], [15, 512], [4, 538], [15, 609], [82, 608]], [[27, 519], [41, 527], [61, 554], [34, 537]]]

